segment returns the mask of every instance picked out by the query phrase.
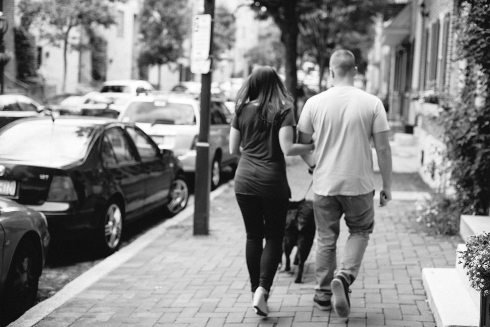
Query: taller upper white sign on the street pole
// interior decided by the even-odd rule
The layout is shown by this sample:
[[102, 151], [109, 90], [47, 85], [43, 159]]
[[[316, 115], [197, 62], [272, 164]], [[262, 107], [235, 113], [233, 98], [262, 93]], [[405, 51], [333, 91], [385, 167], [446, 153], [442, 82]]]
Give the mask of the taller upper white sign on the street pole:
[[195, 15], [192, 21], [190, 60], [207, 60], [211, 47], [211, 15]]

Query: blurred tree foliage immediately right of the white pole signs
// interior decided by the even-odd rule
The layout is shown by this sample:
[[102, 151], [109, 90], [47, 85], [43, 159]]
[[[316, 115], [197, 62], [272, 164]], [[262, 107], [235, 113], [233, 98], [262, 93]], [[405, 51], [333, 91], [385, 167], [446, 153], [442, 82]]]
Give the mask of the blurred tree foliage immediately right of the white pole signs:
[[226, 7], [214, 10], [213, 54], [219, 60], [235, 44], [235, 16]]

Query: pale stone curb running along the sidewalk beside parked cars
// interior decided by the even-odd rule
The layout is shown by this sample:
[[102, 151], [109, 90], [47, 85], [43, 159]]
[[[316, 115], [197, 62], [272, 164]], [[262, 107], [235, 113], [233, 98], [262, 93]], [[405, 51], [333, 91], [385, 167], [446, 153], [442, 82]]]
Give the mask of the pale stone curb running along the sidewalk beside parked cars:
[[[210, 193], [210, 201], [220, 194], [230, 189], [230, 183], [224, 184]], [[182, 212], [172, 218], [168, 218], [158, 224], [148, 232], [144, 233], [127, 246], [121, 248], [116, 253], [97, 263], [89, 270], [82, 273], [76, 279], [66, 284], [60, 291], [50, 298], [38, 303], [26, 311], [17, 320], [12, 321], [7, 327], [27, 327], [33, 326], [48, 314], [61, 307], [66, 301], [75, 297], [77, 294], [99, 281], [109, 272], [119, 267], [121, 264], [133, 258], [141, 249], [146, 247], [156, 238], [165, 233], [165, 231], [188, 219], [194, 213], [194, 206], [187, 207]]]

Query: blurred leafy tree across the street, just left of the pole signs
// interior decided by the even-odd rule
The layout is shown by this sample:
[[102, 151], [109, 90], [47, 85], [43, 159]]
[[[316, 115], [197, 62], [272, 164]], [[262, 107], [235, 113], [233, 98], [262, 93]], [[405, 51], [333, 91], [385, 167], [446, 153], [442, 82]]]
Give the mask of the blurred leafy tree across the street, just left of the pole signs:
[[187, 1], [144, 0], [140, 15], [142, 49], [138, 64], [142, 67], [176, 62], [182, 57], [182, 46], [190, 30]]

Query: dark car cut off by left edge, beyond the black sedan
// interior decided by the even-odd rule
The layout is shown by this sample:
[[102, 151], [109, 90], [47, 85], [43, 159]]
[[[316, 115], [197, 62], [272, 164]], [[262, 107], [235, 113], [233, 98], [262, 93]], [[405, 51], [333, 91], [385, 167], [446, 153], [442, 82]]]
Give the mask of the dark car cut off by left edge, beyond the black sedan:
[[25, 95], [0, 95], [0, 128], [19, 118], [40, 116], [44, 109], [44, 106]]

